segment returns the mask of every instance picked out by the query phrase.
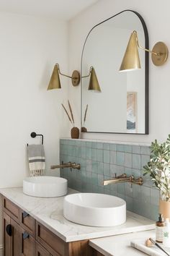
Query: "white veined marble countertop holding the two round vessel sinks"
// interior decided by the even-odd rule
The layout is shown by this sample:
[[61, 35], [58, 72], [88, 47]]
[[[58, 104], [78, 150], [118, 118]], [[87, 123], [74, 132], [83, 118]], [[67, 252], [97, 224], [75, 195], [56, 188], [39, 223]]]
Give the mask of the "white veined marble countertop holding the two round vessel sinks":
[[[68, 194], [76, 192], [76, 190], [68, 189]], [[67, 221], [63, 217], [63, 197], [30, 197], [23, 194], [22, 187], [0, 189], [0, 193], [65, 242], [146, 231], [155, 228], [154, 221], [131, 212], [127, 212], [127, 221], [120, 226], [102, 228], [83, 226]]]

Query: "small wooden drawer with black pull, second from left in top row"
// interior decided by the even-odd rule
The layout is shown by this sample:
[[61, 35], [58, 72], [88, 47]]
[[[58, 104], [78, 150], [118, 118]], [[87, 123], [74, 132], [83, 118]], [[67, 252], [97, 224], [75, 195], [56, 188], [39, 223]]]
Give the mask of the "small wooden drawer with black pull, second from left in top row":
[[35, 236], [35, 219], [32, 218], [32, 216], [30, 216], [24, 210], [20, 210], [20, 215], [21, 215], [20, 220], [21, 220], [22, 229], [28, 231], [28, 233], [34, 237]]

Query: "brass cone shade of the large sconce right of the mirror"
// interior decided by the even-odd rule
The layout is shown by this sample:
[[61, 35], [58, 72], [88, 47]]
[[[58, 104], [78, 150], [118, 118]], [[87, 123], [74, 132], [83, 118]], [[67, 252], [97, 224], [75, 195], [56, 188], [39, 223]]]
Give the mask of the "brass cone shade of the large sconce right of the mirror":
[[140, 69], [140, 59], [138, 53], [138, 44], [136, 40], [136, 33], [133, 32], [130, 35], [130, 40], [125, 51], [125, 55], [122, 59], [120, 71], [128, 71], [134, 69]]

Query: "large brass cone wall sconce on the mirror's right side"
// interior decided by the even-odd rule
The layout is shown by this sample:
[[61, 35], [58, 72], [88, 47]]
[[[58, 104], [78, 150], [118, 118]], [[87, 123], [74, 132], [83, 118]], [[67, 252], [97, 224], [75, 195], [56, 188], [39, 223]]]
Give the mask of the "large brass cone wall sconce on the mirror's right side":
[[151, 51], [140, 46], [138, 42], [138, 33], [136, 31], [133, 31], [133, 33], [130, 35], [130, 40], [126, 48], [125, 55], [122, 59], [120, 71], [129, 71], [141, 68], [138, 48], [151, 53], [151, 59], [153, 61], [153, 64], [156, 66], [163, 65], [168, 59], [169, 50], [165, 43], [156, 43]]

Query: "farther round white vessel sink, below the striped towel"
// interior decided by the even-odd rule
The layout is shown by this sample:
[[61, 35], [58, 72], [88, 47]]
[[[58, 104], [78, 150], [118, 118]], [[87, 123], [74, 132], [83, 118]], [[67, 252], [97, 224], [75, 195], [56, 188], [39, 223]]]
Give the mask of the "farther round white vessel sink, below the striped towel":
[[24, 194], [32, 197], [61, 197], [67, 194], [67, 180], [53, 176], [35, 176], [23, 180]]

